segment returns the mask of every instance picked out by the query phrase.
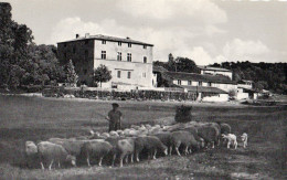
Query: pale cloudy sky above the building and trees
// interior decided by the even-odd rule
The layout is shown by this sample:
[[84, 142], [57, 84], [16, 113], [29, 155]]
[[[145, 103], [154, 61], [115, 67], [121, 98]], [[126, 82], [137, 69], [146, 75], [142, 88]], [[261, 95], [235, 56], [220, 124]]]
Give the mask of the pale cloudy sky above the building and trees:
[[286, 62], [287, 1], [220, 0], [4, 0], [12, 19], [33, 31], [36, 44], [78, 33], [152, 43], [153, 61]]

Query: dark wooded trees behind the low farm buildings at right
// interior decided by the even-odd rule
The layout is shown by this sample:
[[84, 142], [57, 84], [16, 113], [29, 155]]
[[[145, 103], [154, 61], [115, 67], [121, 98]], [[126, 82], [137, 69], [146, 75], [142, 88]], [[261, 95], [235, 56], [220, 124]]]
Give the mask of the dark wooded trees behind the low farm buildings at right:
[[[153, 62], [153, 65], [162, 66], [171, 72], [200, 73], [195, 62], [188, 57], [177, 57], [170, 53], [168, 62]], [[251, 63], [223, 62], [210, 66], [227, 68], [233, 72], [233, 81], [248, 80], [254, 82], [258, 91], [269, 89], [274, 93], [287, 94], [287, 63]], [[159, 85], [167, 85], [163, 78], [159, 78]]]

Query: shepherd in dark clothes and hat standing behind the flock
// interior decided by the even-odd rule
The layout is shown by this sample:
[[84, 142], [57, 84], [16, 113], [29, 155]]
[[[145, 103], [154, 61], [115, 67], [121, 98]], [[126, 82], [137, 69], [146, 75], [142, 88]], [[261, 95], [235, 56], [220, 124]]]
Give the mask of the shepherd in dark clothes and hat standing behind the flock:
[[121, 128], [121, 112], [118, 110], [119, 105], [117, 103], [111, 104], [113, 109], [108, 113], [106, 119], [109, 121], [108, 130], [120, 130]]

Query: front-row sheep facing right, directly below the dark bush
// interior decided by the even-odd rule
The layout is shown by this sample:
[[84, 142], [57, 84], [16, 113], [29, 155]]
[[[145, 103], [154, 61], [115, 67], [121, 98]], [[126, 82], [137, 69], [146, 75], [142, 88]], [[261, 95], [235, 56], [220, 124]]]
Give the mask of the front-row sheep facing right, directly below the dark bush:
[[170, 150], [170, 155], [172, 152], [172, 147], [174, 147], [177, 153], [179, 156], [180, 151], [179, 151], [179, 147], [180, 146], [184, 146], [184, 153], [188, 155], [189, 153], [189, 148], [200, 148], [200, 142], [195, 140], [195, 138], [193, 137], [193, 135], [191, 135], [189, 131], [184, 131], [184, 130], [179, 130], [179, 131], [173, 131], [171, 134], [171, 150]]

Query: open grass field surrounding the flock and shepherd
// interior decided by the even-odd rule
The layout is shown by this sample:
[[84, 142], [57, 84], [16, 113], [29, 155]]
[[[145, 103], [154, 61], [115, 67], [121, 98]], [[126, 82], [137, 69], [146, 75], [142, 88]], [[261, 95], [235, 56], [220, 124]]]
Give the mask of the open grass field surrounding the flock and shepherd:
[[[183, 103], [119, 102], [123, 125], [156, 124], [174, 117]], [[0, 179], [284, 179], [287, 107], [193, 104], [193, 118], [228, 123], [247, 133], [248, 148], [225, 147], [183, 157], [162, 157], [124, 168], [82, 166], [52, 171], [21, 168], [25, 140], [74, 137], [107, 130], [110, 102], [0, 96]]]

